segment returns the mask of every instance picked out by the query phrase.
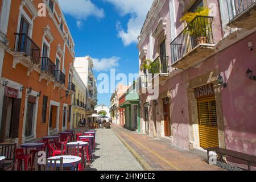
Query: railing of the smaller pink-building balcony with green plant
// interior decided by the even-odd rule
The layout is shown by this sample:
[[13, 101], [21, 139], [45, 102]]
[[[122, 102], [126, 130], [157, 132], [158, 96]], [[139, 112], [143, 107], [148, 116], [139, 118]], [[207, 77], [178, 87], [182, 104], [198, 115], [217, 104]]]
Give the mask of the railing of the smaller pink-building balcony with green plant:
[[168, 56], [158, 56], [156, 59], [150, 64], [149, 73], [152, 75], [157, 73], [169, 73], [169, 57]]

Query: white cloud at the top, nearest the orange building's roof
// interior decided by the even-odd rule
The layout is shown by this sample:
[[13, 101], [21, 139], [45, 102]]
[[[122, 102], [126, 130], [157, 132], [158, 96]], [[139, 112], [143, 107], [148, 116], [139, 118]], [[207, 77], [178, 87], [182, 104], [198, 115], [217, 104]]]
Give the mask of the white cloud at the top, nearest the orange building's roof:
[[103, 18], [104, 10], [94, 5], [90, 0], [59, 0], [63, 13], [76, 19], [85, 20], [88, 16]]

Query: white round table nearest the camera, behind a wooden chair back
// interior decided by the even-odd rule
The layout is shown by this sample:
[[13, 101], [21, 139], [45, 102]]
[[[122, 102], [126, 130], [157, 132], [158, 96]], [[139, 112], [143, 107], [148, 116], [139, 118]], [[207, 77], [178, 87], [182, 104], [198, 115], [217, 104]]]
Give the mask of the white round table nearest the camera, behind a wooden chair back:
[[[60, 159], [63, 158], [63, 167], [72, 167], [75, 169], [75, 166], [77, 166], [81, 162], [81, 158], [78, 156], [73, 156], [73, 155], [59, 155], [59, 156], [54, 156], [48, 159]], [[60, 165], [60, 161], [56, 162], [57, 167]]]

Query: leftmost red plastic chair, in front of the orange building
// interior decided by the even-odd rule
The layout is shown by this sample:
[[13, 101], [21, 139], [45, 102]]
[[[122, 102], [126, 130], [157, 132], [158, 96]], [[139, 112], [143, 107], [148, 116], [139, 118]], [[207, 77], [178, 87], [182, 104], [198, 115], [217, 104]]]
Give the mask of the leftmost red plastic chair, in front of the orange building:
[[18, 161], [18, 166], [17, 166], [17, 171], [22, 170], [22, 163], [24, 162], [24, 171], [28, 171], [28, 165], [30, 165], [30, 170], [32, 171], [32, 158], [30, 154], [25, 154], [23, 148], [18, 148], [15, 149], [14, 151], [14, 156], [15, 156], [15, 162]]

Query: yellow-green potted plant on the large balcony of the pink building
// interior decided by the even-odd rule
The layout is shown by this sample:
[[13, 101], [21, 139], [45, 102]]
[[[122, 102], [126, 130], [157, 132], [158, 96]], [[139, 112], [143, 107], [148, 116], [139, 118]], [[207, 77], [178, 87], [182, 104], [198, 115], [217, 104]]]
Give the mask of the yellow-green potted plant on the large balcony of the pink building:
[[[188, 24], [188, 27], [185, 28], [184, 34], [189, 34], [191, 38], [195, 38], [197, 45], [208, 43], [207, 38], [211, 27], [209, 20], [204, 16], [209, 16], [209, 11], [210, 9], [208, 9], [208, 7], [199, 7], [195, 12], [186, 13], [180, 19], [180, 21], [185, 20]], [[198, 19], [195, 20], [195, 18]]]

